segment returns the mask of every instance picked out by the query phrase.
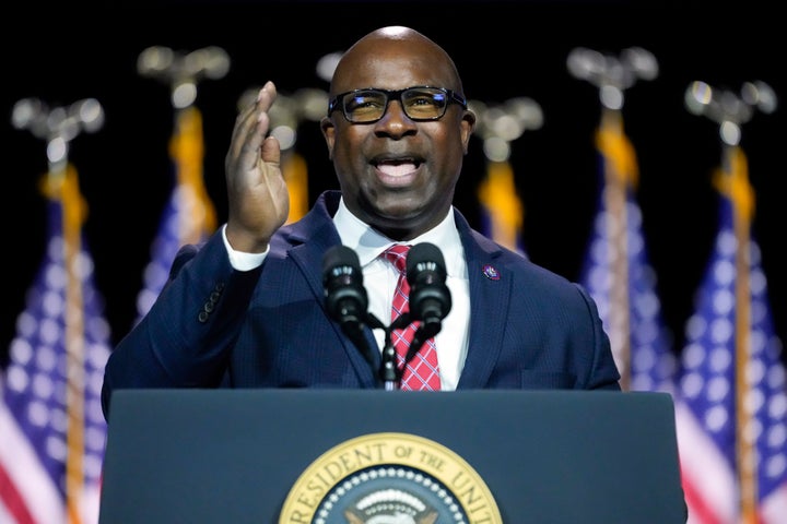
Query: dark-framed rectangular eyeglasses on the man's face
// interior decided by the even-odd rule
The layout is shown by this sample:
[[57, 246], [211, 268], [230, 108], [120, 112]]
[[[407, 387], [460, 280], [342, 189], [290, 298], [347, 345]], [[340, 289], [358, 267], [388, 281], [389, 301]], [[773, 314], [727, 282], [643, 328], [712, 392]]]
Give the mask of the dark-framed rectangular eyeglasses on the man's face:
[[376, 122], [385, 115], [390, 100], [399, 100], [410, 120], [425, 121], [443, 118], [448, 105], [459, 104], [467, 109], [463, 96], [444, 87], [416, 85], [404, 90], [354, 90], [341, 93], [328, 103], [328, 115], [341, 109], [352, 123]]

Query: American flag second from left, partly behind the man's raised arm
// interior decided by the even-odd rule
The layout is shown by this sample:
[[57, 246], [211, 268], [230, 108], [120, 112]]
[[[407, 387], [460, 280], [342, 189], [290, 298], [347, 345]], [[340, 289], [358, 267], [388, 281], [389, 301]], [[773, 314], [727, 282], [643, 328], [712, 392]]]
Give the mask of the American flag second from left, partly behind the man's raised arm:
[[199, 243], [216, 228], [213, 203], [203, 181], [202, 115], [193, 106], [178, 111], [169, 142], [176, 181], [151, 245], [143, 287], [137, 296], [137, 321], [148, 313], [169, 275], [169, 266], [184, 243]]

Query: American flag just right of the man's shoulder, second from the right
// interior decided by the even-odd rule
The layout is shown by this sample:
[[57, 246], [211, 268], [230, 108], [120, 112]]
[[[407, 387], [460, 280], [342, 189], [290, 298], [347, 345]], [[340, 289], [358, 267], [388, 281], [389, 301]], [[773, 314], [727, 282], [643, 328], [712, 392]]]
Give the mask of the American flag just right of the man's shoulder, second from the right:
[[579, 282], [599, 307], [625, 390], [671, 392], [677, 358], [661, 319], [656, 273], [635, 199], [638, 168], [619, 111], [604, 110], [596, 135], [601, 179]]

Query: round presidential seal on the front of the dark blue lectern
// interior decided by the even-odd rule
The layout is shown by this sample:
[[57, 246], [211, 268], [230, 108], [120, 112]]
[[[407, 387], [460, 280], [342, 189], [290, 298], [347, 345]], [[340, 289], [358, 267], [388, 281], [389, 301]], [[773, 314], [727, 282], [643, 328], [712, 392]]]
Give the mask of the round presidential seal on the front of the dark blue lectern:
[[409, 433], [336, 445], [290, 490], [279, 524], [502, 524], [492, 492], [448, 448]]

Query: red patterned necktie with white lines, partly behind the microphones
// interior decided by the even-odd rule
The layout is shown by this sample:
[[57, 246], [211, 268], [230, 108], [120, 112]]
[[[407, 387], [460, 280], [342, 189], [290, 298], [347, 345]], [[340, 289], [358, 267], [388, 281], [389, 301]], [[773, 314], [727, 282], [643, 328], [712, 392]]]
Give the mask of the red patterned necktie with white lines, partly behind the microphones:
[[[388, 248], [383, 257], [388, 259], [399, 271], [399, 282], [393, 293], [393, 307], [391, 309], [391, 322], [400, 314], [409, 311], [410, 284], [407, 281], [407, 253], [410, 246], [395, 245]], [[397, 353], [397, 362], [399, 369], [404, 362], [412, 341], [413, 334], [418, 330], [419, 322], [412, 322], [403, 330], [393, 330], [391, 332], [391, 341]], [[402, 390], [426, 390], [439, 391], [439, 368], [437, 367], [437, 350], [435, 349], [434, 338], [427, 340], [419, 353], [410, 360], [402, 372], [401, 385]]]

